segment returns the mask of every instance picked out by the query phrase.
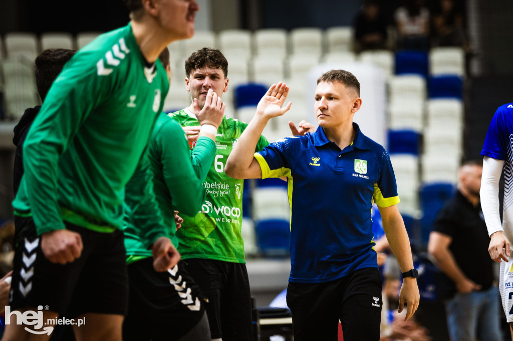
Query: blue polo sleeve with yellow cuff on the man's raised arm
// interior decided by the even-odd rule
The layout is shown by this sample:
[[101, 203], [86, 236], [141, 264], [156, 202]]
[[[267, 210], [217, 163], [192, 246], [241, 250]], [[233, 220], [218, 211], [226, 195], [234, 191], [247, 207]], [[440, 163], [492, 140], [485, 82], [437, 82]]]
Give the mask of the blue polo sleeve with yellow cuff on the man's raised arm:
[[285, 137], [269, 144], [262, 151], [254, 154], [255, 159], [260, 164], [260, 168], [262, 168], [262, 179], [280, 178], [290, 175], [294, 139], [295, 137]]

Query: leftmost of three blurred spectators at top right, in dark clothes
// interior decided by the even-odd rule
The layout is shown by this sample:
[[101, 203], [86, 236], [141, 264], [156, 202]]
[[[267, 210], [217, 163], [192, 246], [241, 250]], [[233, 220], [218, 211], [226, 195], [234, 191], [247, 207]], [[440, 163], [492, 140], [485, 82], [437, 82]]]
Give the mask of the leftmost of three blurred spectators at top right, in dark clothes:
[[386, 20], [377, 0], [364, 2], [354, 19], [354, 38], [356, 52], [386, 48]]

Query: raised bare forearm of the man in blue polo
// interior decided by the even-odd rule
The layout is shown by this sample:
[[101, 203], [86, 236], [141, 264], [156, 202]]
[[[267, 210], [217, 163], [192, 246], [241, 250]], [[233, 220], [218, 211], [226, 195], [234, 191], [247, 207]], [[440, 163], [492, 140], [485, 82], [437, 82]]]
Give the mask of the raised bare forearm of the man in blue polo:
[[226, 160], [225, 173], [228, 176], [246, 178], [246, 171], [253, 162], [255, 148], [267, 122], [268, 119], [258, 113], [251, 119]]

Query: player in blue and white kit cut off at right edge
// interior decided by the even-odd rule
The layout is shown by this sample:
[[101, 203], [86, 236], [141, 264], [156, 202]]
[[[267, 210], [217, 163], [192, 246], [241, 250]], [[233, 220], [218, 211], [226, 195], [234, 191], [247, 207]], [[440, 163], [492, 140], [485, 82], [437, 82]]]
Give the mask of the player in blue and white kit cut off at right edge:
[[[492, 260], [501, 263], [499, 291], [506, 314], [511, 340], [513, 340], [513, 266], [511, 241], [513, 241], [513, 193], [511, 164], [513, 163], [513, 103], [497, 109], [484, 141], [483, 176], [481, 178], [481, 207], [490, 236], [488, 252]], [[499, 215], [499, 180], [504, 169], [504, 203], [502, 224]], [[504, 262], [502, 262], [504, 261]]]

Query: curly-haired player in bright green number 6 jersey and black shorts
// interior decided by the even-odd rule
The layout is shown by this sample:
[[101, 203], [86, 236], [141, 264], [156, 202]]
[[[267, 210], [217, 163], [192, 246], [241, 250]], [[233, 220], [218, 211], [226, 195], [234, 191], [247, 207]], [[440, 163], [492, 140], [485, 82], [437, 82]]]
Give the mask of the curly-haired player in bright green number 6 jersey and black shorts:
[[[203, 48], [185, 61], [186, 89], [192, 101], [203, 108], [209, 89], [218, 96], [228, 90], [228, 62], [219, 50]], [[197, 110], [191, 104], [172, 116], [188, 135], [199, 132]], [[294, 134], [311, 130], [301, 122], [300, 130], [289, 125]], [[244, 260], [241, 236], [243, 181], [224, 173], [224, 165], [234, 143], [247, 124], [233, 118], [223, 118], [215, 137], [217, 147], [214, 162], [203, 183], [207, 195], [202, 209], [184, 219], [179, 237], [183, 266], [207, 296], [207, 315], [212, 339], [252, 340], [251, 296]], [[195, 148], [191, 138], [190, 146]], [[255, 151], [268, 144], [260, 136]]]

